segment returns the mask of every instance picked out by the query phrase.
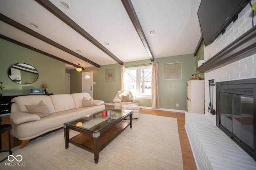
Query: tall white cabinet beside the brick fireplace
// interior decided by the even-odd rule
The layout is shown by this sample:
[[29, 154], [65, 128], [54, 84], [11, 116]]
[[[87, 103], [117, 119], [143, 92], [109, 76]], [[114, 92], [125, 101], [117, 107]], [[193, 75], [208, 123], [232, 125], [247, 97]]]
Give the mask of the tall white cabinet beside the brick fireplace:
[[190, 80], [188, 84], [188, 112], [204, 114], [204, 80]]

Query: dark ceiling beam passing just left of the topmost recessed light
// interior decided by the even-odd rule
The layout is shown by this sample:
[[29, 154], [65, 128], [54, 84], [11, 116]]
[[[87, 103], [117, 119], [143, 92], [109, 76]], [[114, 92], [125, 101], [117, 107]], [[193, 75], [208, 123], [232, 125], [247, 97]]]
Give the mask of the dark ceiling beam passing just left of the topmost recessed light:
[[60, 20], [62, 20], [64, 23], [66, 23], [68, 26], [70, 26], [72, 29], [74, 29], [76, 32], [78, 32], [80, 35], [82, 35], [84, 38], [86, 38], [88, 41], [90, 41], [93, 45], [98, 47], [101, 51], [106, 53], [108, 56], [110, 56], [114, 61], [117, 63], [124, 65], [124, 63], [118, 59], [113, 53], [111, 53], [106, 47], [104, 47], [101, 43], [99, 43], [94, 37], [92, 37], [89, 33], [87, 33], [82, 27], [80, 27], [77, 23], [75, 23], [73, 20], [71, 20], [66, 14], [64, 14], [59, 8], [57, 8], [52, 2], [48, 0], [35, 0], [38, 2], [38, 4], [42, 5], [46, 10], [50, 11], [52, 14], [54, 14], [56, 17], [58, 17]]

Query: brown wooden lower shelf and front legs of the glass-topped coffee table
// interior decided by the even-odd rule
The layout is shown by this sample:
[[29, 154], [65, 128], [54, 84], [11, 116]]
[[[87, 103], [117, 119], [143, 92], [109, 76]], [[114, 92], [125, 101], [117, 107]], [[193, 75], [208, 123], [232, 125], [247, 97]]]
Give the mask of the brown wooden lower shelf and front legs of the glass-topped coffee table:
[[[95, 163], [98, 163], [99, 152], [103, 150], [109, 143], [111, 143], [129, 125], [130, 125], [130, 122], [120, 121], [114, 127], [100, 133], [98, 137], [93, 137], [94, 133], [88, 134], [80, 131], [81, 132], [80, 134], [70, 139], [67, 139], [68, 141], [66, 144], [66, 149], [68, 149], [68, 142], [72, 143], [73, 145], [76, 145], [82, 149], [85, 149], [94, 153]], [[64, 132], [66, 130], [69, 131], [69, 129], [76, 131], [76, 129], [73, 129], [72, 127], [67, 126], [66, 128], [67, 129], [64, 128]]]

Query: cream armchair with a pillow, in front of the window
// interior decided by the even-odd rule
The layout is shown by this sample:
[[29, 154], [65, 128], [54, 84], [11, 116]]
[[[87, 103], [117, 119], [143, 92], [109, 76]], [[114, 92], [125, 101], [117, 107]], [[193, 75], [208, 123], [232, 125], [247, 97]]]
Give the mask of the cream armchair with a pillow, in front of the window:
[[140, 106], [140, 99], [136, 98], [130, 91], [118, 91], [113, 99], [114, 108], [121, 109], [123, 104], [136, 104]]

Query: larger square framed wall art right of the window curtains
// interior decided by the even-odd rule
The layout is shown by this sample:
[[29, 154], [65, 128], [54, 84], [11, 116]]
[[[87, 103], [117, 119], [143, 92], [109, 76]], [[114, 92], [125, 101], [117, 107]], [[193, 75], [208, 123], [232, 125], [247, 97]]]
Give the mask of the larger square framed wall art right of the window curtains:
[[164, 80], [182, 79], [182, 63], [164, 64]]

